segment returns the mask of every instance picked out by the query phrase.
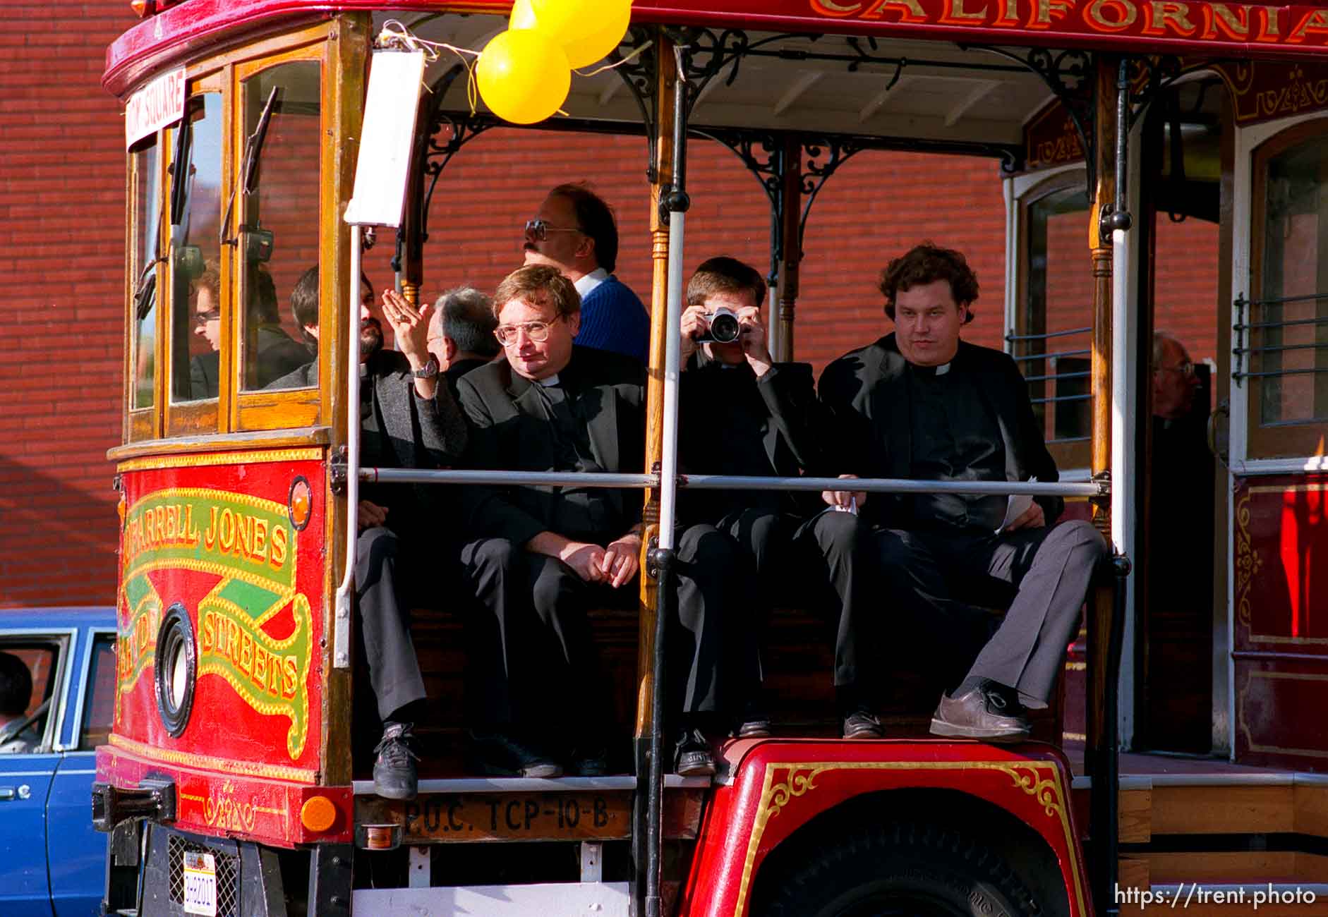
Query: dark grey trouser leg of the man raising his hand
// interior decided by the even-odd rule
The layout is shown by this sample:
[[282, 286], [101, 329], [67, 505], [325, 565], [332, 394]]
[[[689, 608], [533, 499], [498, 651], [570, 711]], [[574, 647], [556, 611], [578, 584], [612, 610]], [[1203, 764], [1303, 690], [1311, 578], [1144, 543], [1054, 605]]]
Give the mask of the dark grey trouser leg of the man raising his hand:
[[355, 555], [356, 624], [378, 718], [425, 698], [424, 677], [410, 640], [410, 606], [397, 572], [397, 536], [382, 527], [360, 532]]

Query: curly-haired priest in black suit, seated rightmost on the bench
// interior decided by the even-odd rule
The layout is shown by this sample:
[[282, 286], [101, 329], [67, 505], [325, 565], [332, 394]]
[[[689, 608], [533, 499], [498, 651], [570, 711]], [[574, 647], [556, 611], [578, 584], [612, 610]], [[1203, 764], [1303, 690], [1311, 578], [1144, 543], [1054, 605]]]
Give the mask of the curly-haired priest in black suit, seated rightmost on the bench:
[[[884, 269], [880, 292], [895, 333], [821, 376], [833, 418], [827, 454], [838, 457], [839, 470], [938, 482], [1056, 480], [1015, 361], [959, 340], [977, 299], [964, 256], [918, 246]], [[1016, 518], [1007, 519], [1012, 506]], [[1046, 706], [1094, 568], [1108, 555], [1088, 523], [1056, 524], [1062, 508], [1058, 498], [1021, 508], [1005, 496], [954, 494], [872, 495], [865, 503], [865, 518], [882, 529], [891, 595], [923, 644], [916, 649], [956, 671], [932, 733], [1017, 741], [1028, 735], [1025, 707]], [[1007, 601], [996, 626], [983, 606]]]

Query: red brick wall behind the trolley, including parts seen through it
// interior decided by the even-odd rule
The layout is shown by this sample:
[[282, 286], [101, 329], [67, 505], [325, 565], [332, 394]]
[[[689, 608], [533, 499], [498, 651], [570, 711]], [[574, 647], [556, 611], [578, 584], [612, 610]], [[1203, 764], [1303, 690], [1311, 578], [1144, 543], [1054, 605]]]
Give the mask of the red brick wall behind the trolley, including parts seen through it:
[[[121, 435], [124, 147], [121, 107], [102, 93], [106, 44], [134, 19], [121, 0], [35, 5], [0, 0], [21, 24], [0, 33], [0, 606], [110, 602], [114, 468]], [[543, 191], [592, 179], [616, 208], [619, 276], [649, 293], [645, 143], [640, 138], [494, 130], [448, 166], [430, 215], [425, 295], [493, 288], [521, 263], [521, 226]], [[278, 166], [271, 167], [274, 176]], [[714, 253], [768, 268], [769, 216], [756, 179], [728, 150], [692, 147], [687, 264]], [[271, 215], [274, 228], [282, 218]], [[1186, 230], [1189, 231], [1189, 230]], [[817, 369], [888, 330], [875, 277], [908, 246], [964, 249], [983, 295], [969, 340], [999, 346], [1004, 215], [992, 161], [861, 153], [811, 211], [797, 356]], [[278, 239], [282, 251], [283, 240]], [[1190, 239], [1178, 242], [1185, 252]], [[389, 283], [390, 239], [367, 257]], [[1210, 246], [1214, 252], [1215, 244]], [[274, 264], [283, 313], [307, 252]], [[295, 261], [299, 261], [297, 264]], [[1088, 277], [1088, 256], [1084, 256]], [[1169, 265], [1169, 271], [1173, 267]], [[1169, 283], [1179, 275], [1169, 273]], [[1211, 279], [1211, 273], [1206, 275]], [[1204, 276], [1198, 277], [1206, 281]], [[1163, 301], [1211, 326], [1211, 293]], [[1182, 295], [1183, 292], [1183, 295]], [[283, 315], [283, 317], [286, 317]], [[1161, 324], [1185, 332], [1179, 315]], [[1198, 340], [1201, 334], [1195, 332]], [[1210, 348], [1211, 350], [1211, 348]], [[1191, 348], [1195, 358], [1207, 354]]]

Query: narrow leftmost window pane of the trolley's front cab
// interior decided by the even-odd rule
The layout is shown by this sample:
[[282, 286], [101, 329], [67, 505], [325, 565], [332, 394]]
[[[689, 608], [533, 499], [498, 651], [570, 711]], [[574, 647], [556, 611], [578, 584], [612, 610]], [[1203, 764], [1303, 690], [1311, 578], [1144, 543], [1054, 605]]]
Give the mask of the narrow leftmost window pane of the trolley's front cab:
[[161, 183], [157, 138], [133, 153], [134, 239], [130, 276], [134, 277], [133, 409], [153, 406], [157, 340], [157, 259], [161, 227]]

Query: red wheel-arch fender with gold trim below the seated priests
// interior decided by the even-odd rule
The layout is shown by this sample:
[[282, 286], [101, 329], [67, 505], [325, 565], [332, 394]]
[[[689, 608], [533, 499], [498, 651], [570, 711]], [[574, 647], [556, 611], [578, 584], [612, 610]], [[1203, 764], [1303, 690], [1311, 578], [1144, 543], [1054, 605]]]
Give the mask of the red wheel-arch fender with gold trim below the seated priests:
[[1033, 828], [1054, 852], [1069, 913], [1092, 912], [1074, 827], [1069, 764], [1050, 746], [973, 742], [736, 742], [733, 779], [701, 827], [683, 917], [742, 917], [765, 857], [814, 816], [855, 796], [899, 788], [959, 790]]

